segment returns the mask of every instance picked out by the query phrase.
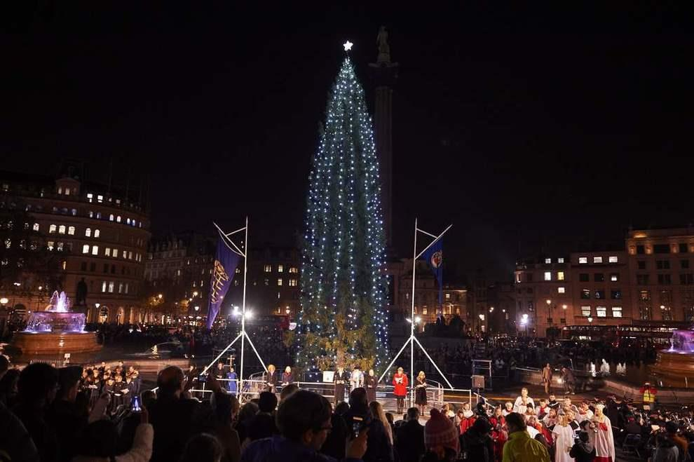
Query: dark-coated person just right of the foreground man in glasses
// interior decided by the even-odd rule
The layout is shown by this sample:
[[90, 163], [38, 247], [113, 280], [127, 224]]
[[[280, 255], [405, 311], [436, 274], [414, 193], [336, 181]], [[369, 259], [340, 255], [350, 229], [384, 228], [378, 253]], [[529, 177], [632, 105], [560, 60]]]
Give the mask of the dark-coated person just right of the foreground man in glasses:
[[393, 444], [383, 421], [374, 416], [369, 409], [366, 390], [355, 388], [349, 394], [349, 410], [345, 414], [347, 428], [352, 428], [355, 417], [367, 421], [369, 434], [367, 437], [368, 449], [364, 454], [364, 462], [393, 462]]

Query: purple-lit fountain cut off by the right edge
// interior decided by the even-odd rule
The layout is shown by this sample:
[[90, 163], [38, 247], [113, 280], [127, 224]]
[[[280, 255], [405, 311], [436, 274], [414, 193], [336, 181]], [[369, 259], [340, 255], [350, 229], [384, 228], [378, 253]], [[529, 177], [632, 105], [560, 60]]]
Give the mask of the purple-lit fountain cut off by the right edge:
[[651, 372], [662, 386], [694, 386], [694, 330], [672, 332], [670, 348], [658, 351]]

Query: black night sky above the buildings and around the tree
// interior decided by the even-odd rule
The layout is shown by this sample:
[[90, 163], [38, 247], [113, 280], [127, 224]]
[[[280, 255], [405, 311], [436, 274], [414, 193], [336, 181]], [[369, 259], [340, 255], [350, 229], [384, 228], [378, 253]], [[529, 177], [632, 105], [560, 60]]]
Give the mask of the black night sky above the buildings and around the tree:
[[630, 225], [694, 222], [686, 11], [328, 3], [2, 7], [0, 168], [50, 174], [78, 158], [105, 179], [112, 159], [118, 182], [149, 177], [154, 233], [236, 228], [247, 214], [251, 245], [294, 243], [341, 43], [355, 43], [372, 105], [385, 24], [400, 63], [401, 255], [415, 215], [430, 232], [454, 224], [448, 282], [477, 268], [508, 279], [542, 250], [620, 245]]

